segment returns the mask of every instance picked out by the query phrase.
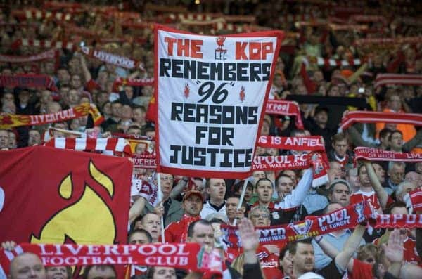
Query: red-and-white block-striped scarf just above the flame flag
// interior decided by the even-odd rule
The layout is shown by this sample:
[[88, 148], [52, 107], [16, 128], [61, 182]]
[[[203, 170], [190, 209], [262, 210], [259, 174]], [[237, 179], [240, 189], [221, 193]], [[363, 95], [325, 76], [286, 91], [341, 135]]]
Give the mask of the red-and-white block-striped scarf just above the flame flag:
[[45, 146], [71, 150], [113, 151], [132, 156], [129, 143], [124, 138], [51, 138]]

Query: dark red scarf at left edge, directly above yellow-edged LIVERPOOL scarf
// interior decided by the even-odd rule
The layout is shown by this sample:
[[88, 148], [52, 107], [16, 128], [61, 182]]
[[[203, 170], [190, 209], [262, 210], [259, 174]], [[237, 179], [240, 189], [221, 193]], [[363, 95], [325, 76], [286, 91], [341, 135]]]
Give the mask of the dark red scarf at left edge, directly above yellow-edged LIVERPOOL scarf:
[[58, 91], [53, 79], [46, 74], [14, 74], [0, 75], [0, 87], [45, 87], [51, 91]]

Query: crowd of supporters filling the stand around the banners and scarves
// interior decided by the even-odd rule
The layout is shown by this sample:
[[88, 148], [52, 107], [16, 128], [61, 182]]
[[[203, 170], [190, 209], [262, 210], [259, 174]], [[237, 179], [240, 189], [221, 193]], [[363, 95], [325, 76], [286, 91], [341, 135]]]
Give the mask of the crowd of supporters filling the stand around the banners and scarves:
[[[255, 171], [239, 205], [244, 181], [236, 177], [224, 180], [160, 174], [162, 202], [157, 207], [132, 191], [128, 243], [161, 242], [163, 226], [166, 242], [198, 242], [222, 249], [224, 278], [422, 278], [420, 229], [390, 231], [359, 225], [281, 247], [260, 245], [251, 227], [300, 221], [362, 201], [370, 201], [379, 213], [411, 213], [408, 193], [422, 186], [422, 162], [358, 160], [355, 165], [353, 150], [366, 146], [421, 153], [422, 129], [411, 124], [356, 123], [338, 133], [338, 126], [343, 114], [352, 110], [395, 112], [398, 119], [403, 114], [421, 113], [421, 2], [27, 2], [0, 1], [0, 53], [4, 55], [0, 57], [0, 74], [44, 74], [55, 86], [1, 87], [1, 115], [44, 115], [91, 103], [105, 119], [99, 137], [123, 134], [153, 140], [155, 136], [153, 115], [148, 110], [153, 86], [148, 82], [116, 82], [119, 78], [148, 81], [154, 77], [154, 22], [200, 34], [271, 29], [286, 34], [269, 98], [297, 101], [305, 129], [297, 129], [293, 117], [265, 115], [260, 134], [322, 136], [329, 160], [328, 183], [312, 188], [312, 170]], [[60, 47], [57, 42], [62, 42]], [[105, 63], [84, 53], [84, 47], [131, 58], [136, 66], [128, 69]], [[56, 49], [53, 58], [13, 62], [12, 57], [34, 56], [50, 48]], [[416, 81], [404, 84], [397, 76], [397, 80], [380, 85], [379, 74], [414, 74]], [[0, 149], [42, 145], [51, 137], [78, 137], [93, 128], [93, 119], [84, 116], [68, 122], [0, 129]], [[153, 154], [153, 146], [135, 153]], [[295, 153], [302, 151], [258, 146], [255, 155]], [[134, 174], [138, 179], [158, 182], [152, 169], [136, 168]], [[222, 223], [236, 222], [243, 224], [243, 243], [250, 244], [243, 246], [244, 250], [231, 249], [221, 241]], [[11, 246], [4, 243], [6, 248]], [[36, 278], [30, 273], [39, 278], [70, 278], [70, 268], [45, 271], [37, 259], [25, 257], [32, 256], [15, 258], [11, 278]], [[23, 270], [20, 261], [34, 264]], [[86, 268], [83, 276], [117, 275], [113, 266], [93, 266]], [[202, 275], [171, 266], [129, 266], [127, 276]]]

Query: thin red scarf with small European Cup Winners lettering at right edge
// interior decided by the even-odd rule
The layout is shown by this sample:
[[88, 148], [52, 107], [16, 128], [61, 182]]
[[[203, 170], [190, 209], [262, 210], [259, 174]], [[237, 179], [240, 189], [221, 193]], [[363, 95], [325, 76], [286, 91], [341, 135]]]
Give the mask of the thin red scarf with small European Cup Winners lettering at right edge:
[[386, 151], [378, 148], [354, 148], [354, 162], [359, 159], [370, 161], [394, 161], [394, 162], [422, 162], [422, 153], [399, 153]]

